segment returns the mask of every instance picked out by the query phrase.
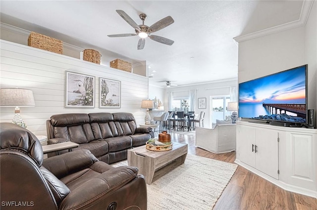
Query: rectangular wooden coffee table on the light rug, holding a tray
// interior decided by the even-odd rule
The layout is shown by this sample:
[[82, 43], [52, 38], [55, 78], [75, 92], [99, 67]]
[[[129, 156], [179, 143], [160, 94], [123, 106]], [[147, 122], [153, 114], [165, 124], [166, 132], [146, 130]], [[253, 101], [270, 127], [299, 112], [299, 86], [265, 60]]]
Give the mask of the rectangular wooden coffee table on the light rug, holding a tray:
[[128, 150], [128, 165], [139, 168], [146, 183], [151, 184], [169, 171], [184, 163], [187, 156], [187, 144], [173, 142], [172, 150], [151, 151], [146, 146]]

